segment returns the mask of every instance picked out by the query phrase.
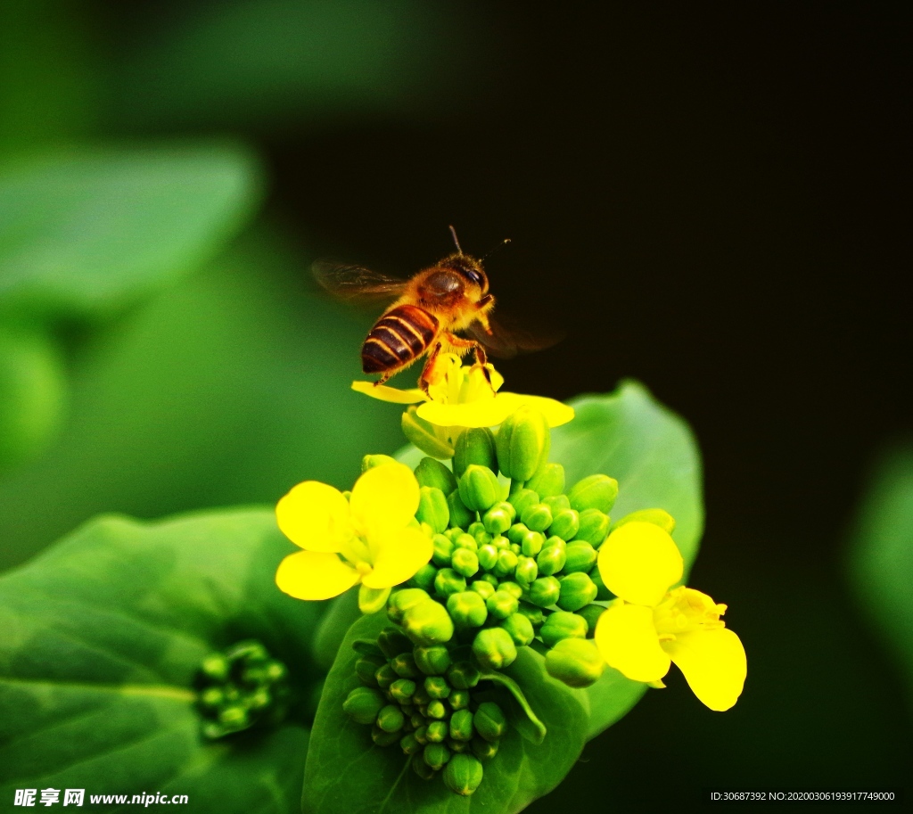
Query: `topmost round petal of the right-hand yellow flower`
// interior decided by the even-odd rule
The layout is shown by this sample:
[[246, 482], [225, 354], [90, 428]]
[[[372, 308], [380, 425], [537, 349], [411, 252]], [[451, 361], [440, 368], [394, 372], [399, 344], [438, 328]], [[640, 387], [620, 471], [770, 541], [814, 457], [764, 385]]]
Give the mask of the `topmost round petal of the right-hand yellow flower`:
[[684, 569], [672, 537], [653, 523], [625, 523], [599, 549], [605, 587], [635, 605], [658, 605]]

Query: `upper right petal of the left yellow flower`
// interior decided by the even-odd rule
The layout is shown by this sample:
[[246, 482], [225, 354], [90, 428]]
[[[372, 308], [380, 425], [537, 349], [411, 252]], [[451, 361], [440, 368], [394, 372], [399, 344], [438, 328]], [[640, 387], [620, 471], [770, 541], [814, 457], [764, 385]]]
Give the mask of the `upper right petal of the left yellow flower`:
[[374, 466], [352, 487], [349, 506], [356, 529], [369, 541], [399, 531], [415, 517], [418, 496], [418, 481], [408, 466]]

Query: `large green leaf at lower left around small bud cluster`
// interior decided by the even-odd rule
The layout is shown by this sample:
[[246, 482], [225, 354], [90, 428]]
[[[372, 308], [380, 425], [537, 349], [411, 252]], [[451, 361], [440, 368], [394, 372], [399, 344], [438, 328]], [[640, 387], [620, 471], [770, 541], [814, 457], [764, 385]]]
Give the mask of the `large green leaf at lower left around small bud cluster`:
[[0, 578], [0, 798], [145, 790], [201, 810], [297, 811], [307, 699], [271, 732], [209, 744], [192, 690], [208, 652], [247, 638], [299, 693], [319, 679], [319, 609], [273, 581], [289, 548], [262, 509], [102, 517]]

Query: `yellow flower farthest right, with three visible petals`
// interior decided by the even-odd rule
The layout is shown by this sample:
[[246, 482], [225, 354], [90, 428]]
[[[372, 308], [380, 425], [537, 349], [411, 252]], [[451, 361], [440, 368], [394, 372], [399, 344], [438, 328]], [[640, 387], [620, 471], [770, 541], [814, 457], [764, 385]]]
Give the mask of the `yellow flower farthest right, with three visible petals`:
[[599, 573], [614, 600], [596, 624], [603, 658], [634, 681], [661, 686], [676, 663], [710, 709], [729, 709], [748, 670], [739, 637], [719, 619], [725, 605], [699, 590], [669, 590], [684, 563], [675, 542], [652, 523], [618, 527], [599, 549]]

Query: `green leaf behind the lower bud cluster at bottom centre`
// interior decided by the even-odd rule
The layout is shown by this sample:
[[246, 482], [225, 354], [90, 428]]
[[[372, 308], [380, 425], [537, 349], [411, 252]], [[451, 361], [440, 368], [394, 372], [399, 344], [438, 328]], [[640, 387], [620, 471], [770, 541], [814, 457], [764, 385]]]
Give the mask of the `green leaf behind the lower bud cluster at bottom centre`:
[[314, 721], [302, 799], [305, 814], [512, 814], [561, 782], [583, 748], [587, 696], [552, 679], [544, 659], [528, 647], [520, 649], [505, 672], [519, 684], [548, 735], [536, 746], [509, 729], [498, 754], [484, 764], [485, 777], [472, 797], [458, 797], [439, 777], [417, 777], [397, 746], [374, 746], [370, 728], [352, 722], [342, 712], [342, 702], [359, 685], [352, 643], [376, 639], [388, 624], [383, 613], [363, 617], [342, 642]]

